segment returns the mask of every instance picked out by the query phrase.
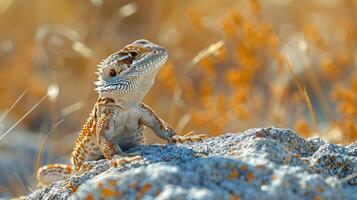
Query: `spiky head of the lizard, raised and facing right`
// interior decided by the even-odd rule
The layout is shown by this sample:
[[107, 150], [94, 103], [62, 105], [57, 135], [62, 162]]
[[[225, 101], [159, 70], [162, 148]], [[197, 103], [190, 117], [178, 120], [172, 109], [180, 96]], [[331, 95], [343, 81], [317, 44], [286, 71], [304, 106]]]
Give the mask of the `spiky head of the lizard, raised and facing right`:
[[99, 64], [95, 90], [103, 97], [121, 102], [141, 101], [167, 56], [164, 47], [137, 40]]

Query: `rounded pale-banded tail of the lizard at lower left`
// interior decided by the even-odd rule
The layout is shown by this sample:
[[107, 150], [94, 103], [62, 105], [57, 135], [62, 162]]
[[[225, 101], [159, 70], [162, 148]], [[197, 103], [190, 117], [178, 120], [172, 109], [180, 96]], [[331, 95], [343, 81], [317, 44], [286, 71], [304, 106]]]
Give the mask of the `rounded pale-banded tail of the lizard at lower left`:
[[72, 165], [50, 164], [42, 166], [37, 171], [37, 180], [40, 186], [49, 185], [55, 181], [69, 178], [74, 171]]

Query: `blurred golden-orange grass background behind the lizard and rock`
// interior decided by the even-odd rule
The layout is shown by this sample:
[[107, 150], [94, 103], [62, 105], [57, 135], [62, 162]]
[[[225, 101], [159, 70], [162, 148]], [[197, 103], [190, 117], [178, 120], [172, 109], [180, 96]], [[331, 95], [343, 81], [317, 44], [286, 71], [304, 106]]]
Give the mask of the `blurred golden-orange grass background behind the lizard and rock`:
[[39, 164], [69, 161], [96, 65], [140, 38], [169, 51], [145, 102], [179, 133], [357, 138], [355, 0], [0, 0], [0, 16], [0, 112], [22, 97], [0, 137], [31, 111], [0, 140], [0, 197], [35, 188], [46, 135]]

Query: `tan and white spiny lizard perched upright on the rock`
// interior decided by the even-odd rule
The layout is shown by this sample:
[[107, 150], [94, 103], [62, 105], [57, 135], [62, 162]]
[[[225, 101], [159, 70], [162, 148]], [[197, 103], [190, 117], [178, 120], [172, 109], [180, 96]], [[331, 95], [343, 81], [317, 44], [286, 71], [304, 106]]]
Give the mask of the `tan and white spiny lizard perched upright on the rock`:
[[87, 161], [112, 160], [120, 164], [141, 159], [137, 152], [125, 151], [143, 144], [144, 126], [169, 143], [200, 141], [205, 134], [178, 135], [146, 104], [143, 98], [168, 58], [166, 48], [140, 39], [99, 65], [95, 90], [98, 99], [74, 144], [71, 165], [49, 164], [37, 170], [39, 185], [65, 180], [80, 173]]

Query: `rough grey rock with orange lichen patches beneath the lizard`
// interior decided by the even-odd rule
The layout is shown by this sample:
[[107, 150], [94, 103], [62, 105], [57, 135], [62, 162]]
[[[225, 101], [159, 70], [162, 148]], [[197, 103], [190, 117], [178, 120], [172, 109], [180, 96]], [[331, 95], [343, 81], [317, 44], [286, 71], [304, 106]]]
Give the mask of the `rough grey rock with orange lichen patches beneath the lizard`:
[[93, 161], [88, 171], [26, 198], [357, 199], [357, 143], [342, 147], [259, 128], [133, 151], [143, 159], [117, 167]]

